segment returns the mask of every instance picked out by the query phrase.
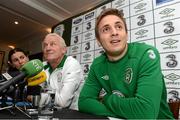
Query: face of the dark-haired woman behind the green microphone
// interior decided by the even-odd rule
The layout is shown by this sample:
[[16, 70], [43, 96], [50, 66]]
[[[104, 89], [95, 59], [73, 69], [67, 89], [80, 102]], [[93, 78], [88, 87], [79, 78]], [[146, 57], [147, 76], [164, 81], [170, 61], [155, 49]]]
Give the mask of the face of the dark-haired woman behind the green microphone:
[[29, 58], [23, 52], [15, 52], [11, 56], [12, 66], [16, 69], [20, 69], [25, 63], [29, 61]]

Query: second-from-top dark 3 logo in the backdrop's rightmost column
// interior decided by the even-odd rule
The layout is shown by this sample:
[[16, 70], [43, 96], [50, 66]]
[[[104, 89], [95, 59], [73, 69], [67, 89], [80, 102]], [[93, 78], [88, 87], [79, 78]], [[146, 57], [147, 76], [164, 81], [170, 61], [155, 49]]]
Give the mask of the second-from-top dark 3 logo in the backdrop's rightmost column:
[[169, 59], [169, 61], [166, 63], [166, 66], [169, 68], [175, 68], [178, 64], [177, 60], [176, 60], [176, 56], [174, 54], [169, 54], [168, 56], [166, 56], [166, 58]]

